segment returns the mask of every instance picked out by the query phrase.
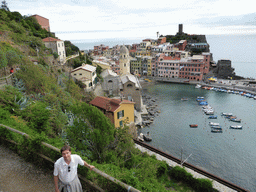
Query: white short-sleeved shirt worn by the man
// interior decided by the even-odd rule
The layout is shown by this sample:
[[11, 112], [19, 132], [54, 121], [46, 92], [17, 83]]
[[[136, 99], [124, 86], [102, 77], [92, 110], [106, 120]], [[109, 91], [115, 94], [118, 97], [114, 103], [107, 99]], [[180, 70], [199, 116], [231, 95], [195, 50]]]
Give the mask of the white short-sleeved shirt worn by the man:
[[[71, 162], [69, 165], [64, 161], [64, 158], [59, 158], [54, 163], [54, 176], [59, 176], [59, 179], [63, 183], [68, 183], [74, 180], [75, 176], [77, 175], [77, 166], [84, 165], [84, 161], [79, 155], [71, 155]], [[70, 172], [68, 172], [68, 167], [70, 166]]]

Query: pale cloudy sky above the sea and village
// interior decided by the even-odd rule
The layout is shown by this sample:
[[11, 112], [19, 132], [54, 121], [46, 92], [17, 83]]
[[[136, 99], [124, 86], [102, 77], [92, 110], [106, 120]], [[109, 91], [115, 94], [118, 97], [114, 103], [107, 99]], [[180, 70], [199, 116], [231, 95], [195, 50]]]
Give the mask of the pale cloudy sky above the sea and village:
[[63, 40], [156, 38], [188, 34], [256, 34], [253, 0], [6, 0], [11, 11], [50, 20]]

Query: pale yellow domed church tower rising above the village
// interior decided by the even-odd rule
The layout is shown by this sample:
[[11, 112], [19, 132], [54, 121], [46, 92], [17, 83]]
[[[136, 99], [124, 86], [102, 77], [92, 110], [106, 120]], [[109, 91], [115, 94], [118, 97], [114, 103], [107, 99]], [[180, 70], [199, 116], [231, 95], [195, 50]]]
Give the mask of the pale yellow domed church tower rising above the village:
[[120, 48], [119, 66], [120, 75], [130, 74], [129, 50], [124, 45]]

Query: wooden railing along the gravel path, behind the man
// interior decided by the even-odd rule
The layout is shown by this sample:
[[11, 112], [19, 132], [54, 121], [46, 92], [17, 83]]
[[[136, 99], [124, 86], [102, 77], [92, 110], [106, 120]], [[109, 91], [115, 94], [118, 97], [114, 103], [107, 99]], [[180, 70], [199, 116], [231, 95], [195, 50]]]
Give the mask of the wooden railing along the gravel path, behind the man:
[[[15, 133], [17, 133], [17, 134], [20, 134], [20, 135], [26, 137], [27, 139], [30, 138], [30, 136], [29, 136], [28, 134], [26, 134], [26, 133], [24, 133], [24, 132], [21, 132], [21, 131], [18, 131], [18, 130], [14, 129], [14, 128], [8, 127], [8, 126], [6, 126], [6, 125], [0, 124], [0, 127], [4, 127], [4, 128], [6, 128], [7, 130], [9, 130], [9, 131], [12, 131], [12, 132], [15, 132]], [[0, 137], [0, 138], [1, 138], [1, 137]], [[17, 143], [15, 143], [14, 141], [9, 141], [9, 142], [14, 143], [14, 144], [17, 144]], [[49, 148], [49, 149], [55, 151], [55, 152], [60, 153], [60, 149], [59, 149], [59, 148], [56, 148], [56, 147], [54, 147], [54, 146], [52, 146], [52, 145], [50, 145], [50, 144], [48, 144], [48, 143], [45, 143], [45, 142], [41, 142], [41, 144], [42, 144], [43, 146], [45, 146], [45, 147], [47, 147], [47, 148]], [[47, 156], [45, 156], [45, 155], [43, 155], [43, 154], [38, 154], [38, 153], [37, 153], [37, 155], [39, 155], [40, 157], [44, 158], [45, 160], [47, 160], [47, 161], [49, 161], [49, 162], [51, 162], [51, 163], [54, 163], [54, 161], [53, 161], [51, 158], [49, 158], [49, 157], [47, 157]], [[103, 176], [104, 178], [108, 179], [109, 181], [114, 182], [114, 183], [116, 183], [116, 184], [122, 186], [123, 188], [127, 189], [128, 192], [140, 192], [138, 189], [135, 189], [135, 188], [133, 188], [132, 186], [129, 186], [129, 185], [127, 185], [127, 184], [125, 184], [125, 183], [123, 183], [123, 182], [117, 180], [116, 178], [114, 178], [114, 177], [112, 177], [112, 176], [110, 176], [110, 175], [107, 175], [106, 173], [104, 173], [104, 172], [98, 170], [97, 168], [93, 168], [92, 171], [94, 171], [95, 173], [97, 173], [97, 174]], [[98, 187], [98, 186], [96, 186], [95, 184], [93, 184], [93, 182], [87, 180], [85, 177], [79, 175], [79, 178], [80, 178], [82, 181], [84, 181], [84, 182], [88, 183], [89, 185], [91, 185], [93, 188], [97, 189], [98, 191], [104, 191], [104, 190], [101, 189], [100, 187]]]

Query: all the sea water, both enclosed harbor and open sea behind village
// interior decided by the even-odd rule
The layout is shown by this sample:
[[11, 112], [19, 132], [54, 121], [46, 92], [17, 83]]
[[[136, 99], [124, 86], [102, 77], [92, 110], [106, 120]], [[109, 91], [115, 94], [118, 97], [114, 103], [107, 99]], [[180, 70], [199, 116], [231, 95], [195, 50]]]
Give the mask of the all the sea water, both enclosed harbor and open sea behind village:
[[[239, 76], [256, 79], [256, 35], [207, 35], [214, 61], [229, 59]], [[80, 49], [94, 45], [140, 43], [142, 39], [105, 39], [75, 42]], [[153, 124], [139, 132], [150, 132], [150, 145], [198, 166], [249, 191], [256, 191], [256, 100], [240, 95], [196, 89], [193, 85], [159, 83], [143, 89], [157, 100], [161, 113]], [[205, 97], [215, 110], [217, 119], [210, 120], [196, 101]], [[182, 101], [187, 97], [188, 101]], [[221, 116], [233, 113], [242, 119], [231, 123]], [[212, 133], [209, 122], [218, 122], [223, 133]], [[198, 124], [190, 128], [189, 124]], [[230, 129], [242, 125], [242, 130]]]

